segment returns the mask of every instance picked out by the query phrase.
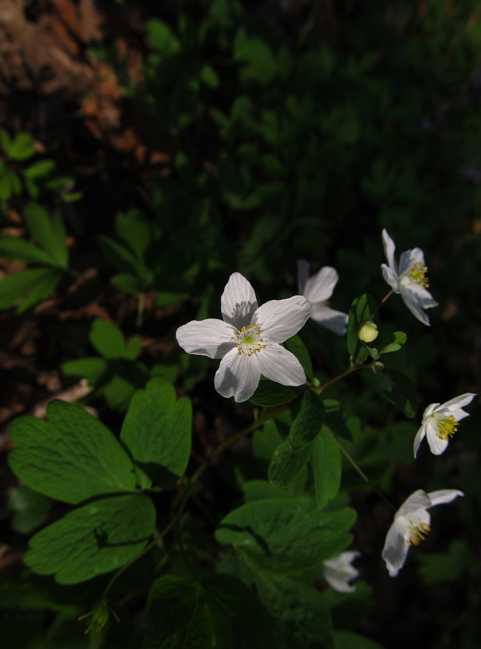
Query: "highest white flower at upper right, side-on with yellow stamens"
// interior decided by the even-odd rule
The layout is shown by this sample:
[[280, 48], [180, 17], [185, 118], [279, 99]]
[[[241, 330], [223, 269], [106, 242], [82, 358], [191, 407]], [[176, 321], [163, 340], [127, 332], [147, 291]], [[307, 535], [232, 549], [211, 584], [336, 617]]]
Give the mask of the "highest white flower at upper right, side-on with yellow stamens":
[[427, 291], [429, 286], [424, 263], [424, 254], [420, 248], [407, 250], [401, 254], [399, 267], [394, 258], [394, 241], [386, 230], [382, 230], [382, 245], [388, 264], [382, 263], [382, 276], [393, 289], [394, 293], [401, 293], [410, 312], [423, 324], [429, 325], [429, 318], [423, 309], [438, 306], [438, 302]]

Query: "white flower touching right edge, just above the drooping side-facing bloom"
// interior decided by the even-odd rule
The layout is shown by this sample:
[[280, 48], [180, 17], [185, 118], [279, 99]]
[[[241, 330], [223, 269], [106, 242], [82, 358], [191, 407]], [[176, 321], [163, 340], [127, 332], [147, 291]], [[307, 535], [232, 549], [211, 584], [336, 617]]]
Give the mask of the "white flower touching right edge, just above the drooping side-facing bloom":
[[421, 441], [428, 438], [429, 448], [434, 455], [441, 455], [446, 450], [449, 443], [449, 437], [452, 437], [458, 430], [459, 422], [464, 417], [469, 417], [469, 413], [462, 409], [467, 406], [473, 398], [471, 392], [465, 393], [460, 397], [454, 397], [444, 404], [431, 404], [426, 408], [423, 415], [423, 423], [414, 438], [414, 457], [416, 458], [417, 449]]

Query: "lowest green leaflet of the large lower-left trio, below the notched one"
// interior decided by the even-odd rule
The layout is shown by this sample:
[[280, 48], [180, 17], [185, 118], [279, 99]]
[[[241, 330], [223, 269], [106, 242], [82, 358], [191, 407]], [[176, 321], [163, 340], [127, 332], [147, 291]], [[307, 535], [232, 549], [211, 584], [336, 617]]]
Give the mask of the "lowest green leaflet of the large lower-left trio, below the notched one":
[[133, 559], [154, 531], [156, 510], [143, 494], [100, 498], [74, 509], [30, 540], [25, 563], [58, 583], [85, 582]]

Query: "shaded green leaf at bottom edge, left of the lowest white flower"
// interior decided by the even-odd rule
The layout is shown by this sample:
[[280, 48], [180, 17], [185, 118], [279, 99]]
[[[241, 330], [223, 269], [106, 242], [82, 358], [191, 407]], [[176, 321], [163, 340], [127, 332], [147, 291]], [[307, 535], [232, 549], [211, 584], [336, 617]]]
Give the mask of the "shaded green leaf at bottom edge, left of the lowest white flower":
[[252, 597], [259, 598], [274, 621], [275, 626], [264, 646], [269, 649], [333, 649], [329, 609], [313, 581], [302, 574], [270, 570], [242, 548], [229, 552], [220, 570], [248, 585]]

